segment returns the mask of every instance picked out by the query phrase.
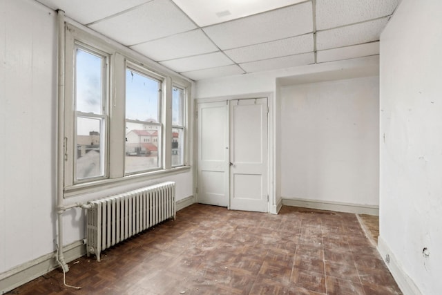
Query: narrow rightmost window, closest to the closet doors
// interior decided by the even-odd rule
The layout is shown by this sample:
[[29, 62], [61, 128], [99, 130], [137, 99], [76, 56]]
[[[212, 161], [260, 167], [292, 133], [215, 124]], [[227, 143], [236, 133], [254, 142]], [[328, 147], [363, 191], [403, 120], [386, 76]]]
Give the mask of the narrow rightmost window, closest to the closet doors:
[[172, 166], [184, 164], [184, 90], [172, 89]]

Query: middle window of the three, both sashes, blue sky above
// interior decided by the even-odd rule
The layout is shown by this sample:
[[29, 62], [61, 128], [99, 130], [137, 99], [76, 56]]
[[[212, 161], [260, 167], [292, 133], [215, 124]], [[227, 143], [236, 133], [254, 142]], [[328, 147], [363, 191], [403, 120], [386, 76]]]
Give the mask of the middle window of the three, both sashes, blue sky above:
[[161, 100], [160, 80], [126, 69], [125, 173], [161, 167], [161, 146], [155, 141], [162, 135]]

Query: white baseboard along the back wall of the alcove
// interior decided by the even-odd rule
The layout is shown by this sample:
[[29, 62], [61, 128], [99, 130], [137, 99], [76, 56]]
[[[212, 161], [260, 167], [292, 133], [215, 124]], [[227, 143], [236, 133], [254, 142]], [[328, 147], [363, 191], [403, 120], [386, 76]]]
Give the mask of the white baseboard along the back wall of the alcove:
[[344, 202], [327, 202], [323, 200], [288, 199], [282, 198], [282, 204], [292, 207], [303, 207], [310, 209], [331, 210], [338, 212], [369, 214], [379, 216], [379, 207], [364, 204], [352, 204]]

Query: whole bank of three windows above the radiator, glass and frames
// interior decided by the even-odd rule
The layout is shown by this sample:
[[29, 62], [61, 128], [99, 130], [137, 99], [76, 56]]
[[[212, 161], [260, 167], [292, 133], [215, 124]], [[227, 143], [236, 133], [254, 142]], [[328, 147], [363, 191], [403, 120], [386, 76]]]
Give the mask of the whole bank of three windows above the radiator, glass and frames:
[[66, 23], [65, 196], [185, 169], [191, 83]]

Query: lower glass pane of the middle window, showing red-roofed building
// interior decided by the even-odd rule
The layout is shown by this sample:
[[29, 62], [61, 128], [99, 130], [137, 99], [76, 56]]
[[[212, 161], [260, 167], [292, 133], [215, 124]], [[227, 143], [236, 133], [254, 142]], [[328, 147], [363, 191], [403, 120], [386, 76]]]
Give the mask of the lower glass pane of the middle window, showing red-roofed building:
[[159, 125], [126, 123], [126, 173], [160, 166], [160, 133]]

